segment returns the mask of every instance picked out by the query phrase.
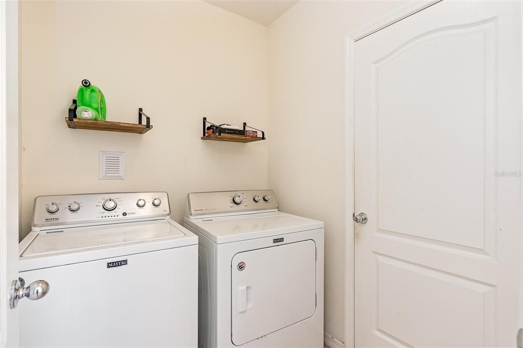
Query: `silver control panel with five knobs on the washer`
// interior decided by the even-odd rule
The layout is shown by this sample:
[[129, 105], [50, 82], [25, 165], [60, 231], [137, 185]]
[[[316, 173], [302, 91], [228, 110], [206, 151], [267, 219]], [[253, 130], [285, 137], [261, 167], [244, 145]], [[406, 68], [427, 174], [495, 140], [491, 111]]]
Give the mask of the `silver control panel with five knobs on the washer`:
[[38, 196], [31, 225], [61, 226], [169, 215], [167, 192], [64, 194]]

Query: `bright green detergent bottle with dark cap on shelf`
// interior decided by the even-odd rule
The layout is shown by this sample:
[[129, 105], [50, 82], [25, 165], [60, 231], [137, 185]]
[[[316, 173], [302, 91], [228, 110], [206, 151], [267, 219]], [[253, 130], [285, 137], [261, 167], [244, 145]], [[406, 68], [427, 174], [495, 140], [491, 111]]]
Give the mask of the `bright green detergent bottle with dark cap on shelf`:
[[82, 80], [82, 86], [78, 88], [76, 94], [76, 102], [77, 118], [105, 121], [107, 114], [105, 96], [100, 88], [91, 85], [89, 80]]

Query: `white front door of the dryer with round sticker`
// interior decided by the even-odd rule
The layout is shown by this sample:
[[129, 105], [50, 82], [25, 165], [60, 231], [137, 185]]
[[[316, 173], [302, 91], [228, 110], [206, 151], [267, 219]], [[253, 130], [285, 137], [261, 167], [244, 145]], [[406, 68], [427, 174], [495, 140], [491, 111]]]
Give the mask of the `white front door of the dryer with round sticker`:
[[231, 266], [232, 342], [235, 345], [314, 314], [314, 241], [240, 252], [233, 257]]

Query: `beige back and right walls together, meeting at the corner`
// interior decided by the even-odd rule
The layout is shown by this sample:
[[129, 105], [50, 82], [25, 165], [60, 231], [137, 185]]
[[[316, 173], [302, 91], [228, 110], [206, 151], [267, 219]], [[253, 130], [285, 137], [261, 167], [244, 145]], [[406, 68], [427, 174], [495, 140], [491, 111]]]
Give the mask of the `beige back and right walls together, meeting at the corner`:
[[[268, 186], [325, 221], [325, 330], [343, 340], [344, 36], [400, 4], [302, 1], [266, 28], [198, 1], [22, 1], [21, 234], [41, 194], [167, 190], [180, 221], [187, 192]], [[142, 107], [154, 129], [68, 129], [83, 78], [109, 120]], [[202, 115], [268, 140], [203, 142]], [[98, 180], [99, 150], [126, 152], [125, 180]]]

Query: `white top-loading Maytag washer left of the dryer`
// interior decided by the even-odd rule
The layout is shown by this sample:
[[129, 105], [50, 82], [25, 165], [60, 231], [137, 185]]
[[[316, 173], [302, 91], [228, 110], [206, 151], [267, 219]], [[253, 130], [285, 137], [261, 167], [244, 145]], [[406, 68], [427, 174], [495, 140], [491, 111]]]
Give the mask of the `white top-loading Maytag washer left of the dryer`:
[[21, 347], [196, 347], [198, 237], [166, 192], [39, 196], [20, 242]]

